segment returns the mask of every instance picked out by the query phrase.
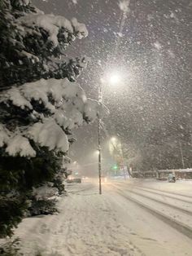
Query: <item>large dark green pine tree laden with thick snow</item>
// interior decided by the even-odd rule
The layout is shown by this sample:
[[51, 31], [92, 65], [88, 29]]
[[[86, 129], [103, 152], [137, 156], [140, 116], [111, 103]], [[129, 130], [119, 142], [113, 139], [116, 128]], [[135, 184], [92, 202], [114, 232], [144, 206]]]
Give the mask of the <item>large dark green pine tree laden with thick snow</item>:
[[38, 214], [53, 206], [45, 195], [62, 192], [60, 159], [68, 152], [71, 130], [94, 120], [100, 106], [87, 99], [75, 82], [86, 59], [68, 60], [64, 55], [76, 38], [87, 36], [85, 25], [45, 15], [28, 0], [1, 0], [0, 5], [0, 237], [4, 237], [11, 235], [25, 210], [36, 207]]

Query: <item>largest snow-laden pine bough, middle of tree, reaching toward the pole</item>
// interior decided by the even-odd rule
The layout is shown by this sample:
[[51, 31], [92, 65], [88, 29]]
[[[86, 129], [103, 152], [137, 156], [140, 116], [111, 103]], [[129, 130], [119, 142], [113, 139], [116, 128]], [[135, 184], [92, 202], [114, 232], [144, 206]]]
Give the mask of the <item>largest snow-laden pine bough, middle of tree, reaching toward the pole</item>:
[[[19, 114], [23, 111], [20, 119], [24, 119], [24, 126], [20, 124], [15, 130], [0, 127], [0, 147], [6, 147], [11, 156], [22, 157], [35, 157], [30, 141], [49, 150], [67, 152], [68, 132], [84, 121], [94, 121], [103, 110], [97, 101], [86, 98], [81, 86], [67, 78], [41, 79], [11, 88], [0, 95], [0, 104], [6, 105], [8, 111], [14, 106]], [[33, 122], [30, 119], [26, 124], [29, 117]]]

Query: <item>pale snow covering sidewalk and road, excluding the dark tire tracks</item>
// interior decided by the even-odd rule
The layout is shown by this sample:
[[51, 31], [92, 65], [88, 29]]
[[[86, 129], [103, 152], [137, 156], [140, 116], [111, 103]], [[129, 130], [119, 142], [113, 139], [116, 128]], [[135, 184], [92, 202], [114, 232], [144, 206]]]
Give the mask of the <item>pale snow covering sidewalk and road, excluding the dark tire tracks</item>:
[[[191, 255], [190, 237], [130, 201], [126, 190], [139, 186], [173, 192], [174, 185], [177, 193], [191, 195], [192, 183], [187, 182], [113, 180], [103, 183], [103, 195], [98, 195], [98, 183], [94, 181], [68, 184], [68, 196], [59, 201], [59, 214], [25, 218], [15, 236], [21, 239], [24, 256], [39, 252], [43, 256]], [[138, 195], [137, 200], [141, 200]], [[151, 204], [149, 199], [143, 202]], [[151, 205], [159, 210], [158, 202]]]

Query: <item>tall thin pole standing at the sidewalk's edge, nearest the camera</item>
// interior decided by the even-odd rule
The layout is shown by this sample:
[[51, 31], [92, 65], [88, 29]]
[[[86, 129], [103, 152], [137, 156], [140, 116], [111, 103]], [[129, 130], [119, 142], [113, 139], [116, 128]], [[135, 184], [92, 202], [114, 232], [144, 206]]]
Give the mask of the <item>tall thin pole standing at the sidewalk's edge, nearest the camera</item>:
[[[98, 103], [102, 104], [102, 86], [98, 86]], [[98, 192], [102, 194], [102, 148], [101, 148], [101, 125], [102, 120], [98, 113]]]

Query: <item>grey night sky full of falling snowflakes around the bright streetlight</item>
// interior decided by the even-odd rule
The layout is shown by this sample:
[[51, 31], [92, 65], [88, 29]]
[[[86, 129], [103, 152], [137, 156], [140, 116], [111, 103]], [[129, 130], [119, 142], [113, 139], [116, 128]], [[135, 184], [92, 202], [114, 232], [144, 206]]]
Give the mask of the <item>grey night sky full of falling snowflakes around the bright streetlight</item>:
[[[174, 133], [178, 125], [191, 129], [191, 13], [190, 0], [131, 0], [119, 38], [122, 11], [118, 0], [33, 0], [46, 13], [73, 16], [85, 23], [89, 37], [74, 42], [71, 56], [88, 55], [89, 67], [78, 78], [87, 95], [96, 98], [105, 73], [120, 69], [124, 82], [104, 86], [110, 116], [103, 120], [103, 142], [119, 135], [140, 147], [151, 129]], [[74, 4], [77, 2], [77, 4]], [[76, 130], [74, 157], [87, 162], [97, 147], [96, 124]]]

